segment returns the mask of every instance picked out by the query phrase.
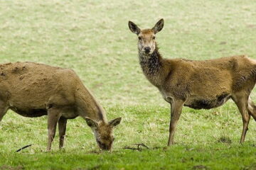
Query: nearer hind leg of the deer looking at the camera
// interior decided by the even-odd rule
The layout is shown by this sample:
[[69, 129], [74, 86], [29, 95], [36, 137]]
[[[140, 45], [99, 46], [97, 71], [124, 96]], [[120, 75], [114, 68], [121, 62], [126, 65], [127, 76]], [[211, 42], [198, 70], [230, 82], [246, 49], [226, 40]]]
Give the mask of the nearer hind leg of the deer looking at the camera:
[[245, 142], [245, 135], [248, 130], [248, 125], [250, 122], [250, 111], [248, 108], [248, 96], [235, 96], [233, 97], [233, 101], [235, 101], [235, 104], [238, 106], [238, 110], [240, 111], [242, 115], [242, 135], [240, 138], [240, 143]]

